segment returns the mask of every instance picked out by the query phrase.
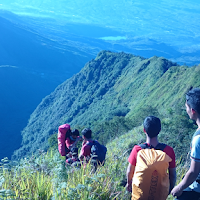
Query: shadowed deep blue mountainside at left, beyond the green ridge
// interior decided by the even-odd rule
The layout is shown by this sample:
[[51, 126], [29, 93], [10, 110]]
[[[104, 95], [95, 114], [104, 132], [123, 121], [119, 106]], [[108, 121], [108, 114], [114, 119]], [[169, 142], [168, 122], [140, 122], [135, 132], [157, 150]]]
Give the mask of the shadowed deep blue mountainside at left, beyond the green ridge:
[[10, 15], [0, 16], [0, 159], [19, 148], [20, 132], [42, 98], [92, 58], [78, 48], [59, 49]]

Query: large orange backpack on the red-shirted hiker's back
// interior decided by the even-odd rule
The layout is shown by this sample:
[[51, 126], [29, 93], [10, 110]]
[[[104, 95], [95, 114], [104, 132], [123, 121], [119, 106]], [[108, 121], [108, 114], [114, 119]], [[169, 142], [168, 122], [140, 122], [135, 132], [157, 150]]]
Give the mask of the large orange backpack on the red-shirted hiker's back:
[[163, 152], [166, 144], [156, 147], [141, 144], [132, 179], [132, 200], [166, 200], [169, 194], [169, 162], [172, 159]]

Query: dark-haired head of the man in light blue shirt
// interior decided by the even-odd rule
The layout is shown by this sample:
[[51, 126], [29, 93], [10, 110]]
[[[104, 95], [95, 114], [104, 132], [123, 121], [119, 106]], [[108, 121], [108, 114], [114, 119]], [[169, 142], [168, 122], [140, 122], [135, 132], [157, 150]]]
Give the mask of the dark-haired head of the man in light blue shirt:
[[188, 106], [200, 114], [200, 89], [194, 88], [186, 93]]

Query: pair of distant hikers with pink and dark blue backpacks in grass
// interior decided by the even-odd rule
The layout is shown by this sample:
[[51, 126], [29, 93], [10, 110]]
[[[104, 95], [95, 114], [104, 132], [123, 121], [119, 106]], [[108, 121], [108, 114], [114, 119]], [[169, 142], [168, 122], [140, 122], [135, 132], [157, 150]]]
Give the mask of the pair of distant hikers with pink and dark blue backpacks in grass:
[[[81, 166], [90, 162], [94, 167], [104, 165], [107, 148], [92, 139], [92, 131], [89, 128], [83, 129], [81, 133], [82, 137], [77, 129], [71, 130], [69, 124], [58, 128], [58, 150], [66, 157], [66, 164]], [[77, 148], [79, 141], [82, 141], [80, 154]]]

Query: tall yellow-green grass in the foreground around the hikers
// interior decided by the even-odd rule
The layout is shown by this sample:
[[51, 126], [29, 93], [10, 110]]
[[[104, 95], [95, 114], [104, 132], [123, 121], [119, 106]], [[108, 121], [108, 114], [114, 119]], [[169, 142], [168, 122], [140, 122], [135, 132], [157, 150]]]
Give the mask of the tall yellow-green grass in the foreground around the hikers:
[[[0, 199], [19, 200], [125, 200], [127, 158], [132, 147], [144, 141], [142, 127], [116, 138], [107, 145], [105, 165], [95, 172], [90, 164], [65, 167], [57, 151], [25, 158], [15, 163], [2, 159], [0, 167]], [[186, 166], [177, 163], [178, 182]], [[173, 199], [169, 195], [168, 200]]]

